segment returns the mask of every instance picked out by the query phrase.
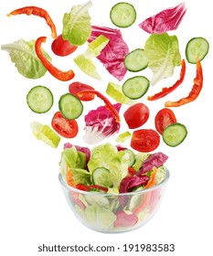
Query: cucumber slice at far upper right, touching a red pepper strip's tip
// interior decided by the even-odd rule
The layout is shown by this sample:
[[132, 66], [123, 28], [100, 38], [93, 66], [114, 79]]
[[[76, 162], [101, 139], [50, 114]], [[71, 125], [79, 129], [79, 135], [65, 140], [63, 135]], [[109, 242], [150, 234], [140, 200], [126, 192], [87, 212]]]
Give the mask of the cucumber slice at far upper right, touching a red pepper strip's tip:
[[191, 64], [196, 64], [208, 54], [209, 44], [204, 37], [194, 37], [186, 45], [186, 59]]

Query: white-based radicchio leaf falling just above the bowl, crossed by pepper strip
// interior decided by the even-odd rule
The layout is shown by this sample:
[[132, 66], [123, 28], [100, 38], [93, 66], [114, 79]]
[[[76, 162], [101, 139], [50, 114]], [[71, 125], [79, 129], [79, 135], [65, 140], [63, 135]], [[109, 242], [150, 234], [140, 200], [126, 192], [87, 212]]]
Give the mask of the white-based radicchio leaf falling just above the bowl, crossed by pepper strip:
[[[113, 106], [119, 112], [122, 104], [116, 103]], [[112, 134], [118, 133], [121, 127], [121, 123], [116, 122], [112, 112], [105, 106], [90, 111], [85, 115], [84, 120], [86, 133], [83, 138], [87, 144], [99, 143]]]

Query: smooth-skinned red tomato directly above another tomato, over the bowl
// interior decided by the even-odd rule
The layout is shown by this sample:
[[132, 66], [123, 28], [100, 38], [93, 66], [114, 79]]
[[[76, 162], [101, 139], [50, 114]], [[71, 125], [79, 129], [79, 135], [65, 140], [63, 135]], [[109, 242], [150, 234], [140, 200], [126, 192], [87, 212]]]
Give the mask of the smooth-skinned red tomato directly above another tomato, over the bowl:
[[142, 126], [149, 118], [149, 109], [144, 103], [136, 103], [123, 113], [130, 129]]

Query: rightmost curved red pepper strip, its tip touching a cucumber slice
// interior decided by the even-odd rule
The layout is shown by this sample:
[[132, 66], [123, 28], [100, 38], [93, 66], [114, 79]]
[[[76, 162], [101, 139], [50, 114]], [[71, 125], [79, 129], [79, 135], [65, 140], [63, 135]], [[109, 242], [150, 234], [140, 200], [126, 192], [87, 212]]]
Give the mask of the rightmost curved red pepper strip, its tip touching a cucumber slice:
[[197, 59], [197, 75], [194, 79], [194, 85], [186, 98], [179, 101], [166, 101], [165, 107], [179, 107], [191, 101], [195, 101], [203, 87], [203, 71], [200, 61]]

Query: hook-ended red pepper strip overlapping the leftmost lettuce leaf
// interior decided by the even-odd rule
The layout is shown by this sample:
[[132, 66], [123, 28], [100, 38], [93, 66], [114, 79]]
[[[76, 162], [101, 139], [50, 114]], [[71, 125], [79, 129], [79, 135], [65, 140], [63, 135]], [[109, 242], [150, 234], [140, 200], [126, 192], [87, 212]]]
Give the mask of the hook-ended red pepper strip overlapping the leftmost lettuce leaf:
[[54, 67], [48, 61], [48, 59], [44, 56], [42, 49], [41, 49], [41, 44], [46, 42], [46, 38], [47, 37], [38, 37], [37, 41], [35, 43], [35, 50], [36, 50], [38, 59], [40, 59], [42, 64], [45, 66], [45, 68], [48, 69], [48, 72], [52, 76], [54, 76], [56, 79], [63, 80], [63, 81], [71, 80], [75, 76], [72, 69], [69, 69], [68, 71], [61, 71], [61, 70], [57, 69], [56, 67]]

